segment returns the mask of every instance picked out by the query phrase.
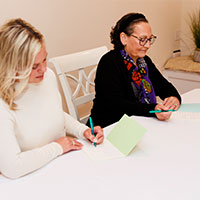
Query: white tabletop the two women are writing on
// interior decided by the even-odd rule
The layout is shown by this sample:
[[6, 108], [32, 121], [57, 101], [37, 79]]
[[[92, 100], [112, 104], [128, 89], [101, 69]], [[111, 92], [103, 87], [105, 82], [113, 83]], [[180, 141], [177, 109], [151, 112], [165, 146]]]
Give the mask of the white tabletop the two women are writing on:
[[[200, 89], [183, 102], [200, 103]], [[133, 118], [148, 132], [128, 157], [92, 161], [71, 152], [18, 180], [0, 176], [0, 199], [199, 200], [200, 121]]]

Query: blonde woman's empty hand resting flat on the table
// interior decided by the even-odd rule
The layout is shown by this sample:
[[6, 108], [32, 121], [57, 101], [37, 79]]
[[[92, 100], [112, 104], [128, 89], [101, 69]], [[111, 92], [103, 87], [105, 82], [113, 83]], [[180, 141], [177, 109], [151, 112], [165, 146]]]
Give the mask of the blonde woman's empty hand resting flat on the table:
[[63, 136], [56, 140], [56, 142], [61, 145], [63, 153], [67, 153], [72, 150], [80, 150], [83, 146], [80, 142], [69, 136]]

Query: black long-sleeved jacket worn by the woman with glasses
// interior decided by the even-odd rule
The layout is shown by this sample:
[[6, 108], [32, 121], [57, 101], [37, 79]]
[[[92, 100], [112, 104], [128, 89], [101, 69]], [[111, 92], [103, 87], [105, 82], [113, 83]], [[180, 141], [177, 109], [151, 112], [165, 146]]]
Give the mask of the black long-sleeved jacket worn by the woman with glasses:
[[[161, 75], [151, 59], [148, 56], [144, 59], [156, 96], [161, 99], [175, 96], [181, 102], [175, 87]], [[155, 117], [155, 114], [149, 114], [149, 111], [154, 110], [156, 104], [137, 102], [129, 72], [123, 63], [121, 53], [117, 50], [111, 50], [101, 58], [96, 72], [95, 90], [96, 95], [91, 110], [94, 125], [105, 127], [118, 121], [125, 113], [129, 116]]]

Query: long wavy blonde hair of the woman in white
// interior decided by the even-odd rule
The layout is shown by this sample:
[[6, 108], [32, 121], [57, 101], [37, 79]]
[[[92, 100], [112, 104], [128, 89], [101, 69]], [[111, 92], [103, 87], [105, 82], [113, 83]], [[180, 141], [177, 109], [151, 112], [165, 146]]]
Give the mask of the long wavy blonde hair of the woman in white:
[[22, 19], [12, 19], [0, 28], [0, 97], [16, 110], [14, 100], [28, 84], [43, 35]]

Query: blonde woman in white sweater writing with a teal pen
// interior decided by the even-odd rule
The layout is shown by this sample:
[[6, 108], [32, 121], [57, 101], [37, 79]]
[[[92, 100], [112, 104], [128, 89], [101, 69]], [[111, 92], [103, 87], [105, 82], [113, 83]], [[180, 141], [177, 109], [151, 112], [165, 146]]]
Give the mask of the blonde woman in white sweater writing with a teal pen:
[[18, 178], [82, 144], [67, 133], [103, 142], [62, 110], [56, 77], [47, 68], [42, 34], [22, 19], [0, 28], [0, 172]]

